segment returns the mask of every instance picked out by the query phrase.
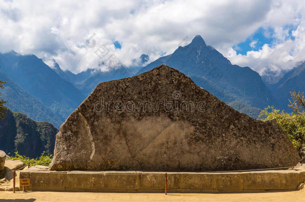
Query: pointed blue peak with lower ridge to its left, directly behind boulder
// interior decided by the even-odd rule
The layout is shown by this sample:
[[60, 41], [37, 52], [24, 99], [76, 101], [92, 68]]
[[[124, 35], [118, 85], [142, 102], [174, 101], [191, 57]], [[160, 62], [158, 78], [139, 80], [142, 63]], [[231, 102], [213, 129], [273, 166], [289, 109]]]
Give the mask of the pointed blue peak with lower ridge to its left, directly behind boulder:
[[[142, 54], [140, 62], [147, 62], [148, 55]], [[227, 104], [242, 103], [237, 107], [240, 112], [257, 118], [258, 110], [275, 103], [271, 92], [263, 83], [259, 74], [249, 67], [232, 65], [221, 53], [207, 46], [200, 35], [196, 35], [190, 44], [179, 46], [172, 54], [158, 58], [140, 68], [143, 73], [161, 64], [166, 64], [189, 76], [198, 86], [209, 91]], [[59, 66], [53, 68], [58, 75], [71, 82], [84, 95], [100, 83], [132, 76], [127, 68], [120, 66], [109, 71], [87, 69], [78, 74], [62, 71]], [[135, 75], [136, 75], [135, 74]]]

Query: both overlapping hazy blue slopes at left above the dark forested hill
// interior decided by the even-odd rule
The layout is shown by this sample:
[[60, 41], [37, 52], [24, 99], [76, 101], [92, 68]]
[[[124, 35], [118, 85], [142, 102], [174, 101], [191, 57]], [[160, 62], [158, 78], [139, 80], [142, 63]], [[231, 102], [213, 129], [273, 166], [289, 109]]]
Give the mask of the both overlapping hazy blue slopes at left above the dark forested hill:
[[[7, 80], [7, 86], [17, 86], [17, 89], [7, 89], [10, 95], [21, 94], [25, 99], [28, 99], [22, 100], [17, 96], [9, 97], [5, 91], [3, 95], [6, 97], [3, 99], [7, 102], [6, 106], [13, 111], [25, 113], [34, 120], [48, 121], [59, 127], [85, 98], [77, 88], [61, 79], [56, 72], [35, 55], [21, 55], [12, 51], [3, 53], [0, 54], [0, 65], [2, 73], [9, 77], [9, 80], [13, 80], [14, 84], [17, 84], [14, 85], [8, 79], [0, 77]], [[18, 90], [20, 88], [23, 92]], [[7, 100], [7, 98], [13, 99]], [[20, 100], [22, 105], [16, 100]], [[28, 104], [27, 101], [34, 103]], [[35, 111], [34, 108], [40, 109], [43, 114]]]

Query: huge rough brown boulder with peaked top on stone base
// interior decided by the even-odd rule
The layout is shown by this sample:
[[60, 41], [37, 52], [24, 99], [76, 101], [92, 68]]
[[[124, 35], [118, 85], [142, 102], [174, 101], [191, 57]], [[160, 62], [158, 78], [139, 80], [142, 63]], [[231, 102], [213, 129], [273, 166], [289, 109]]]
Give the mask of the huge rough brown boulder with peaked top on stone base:
[[275, 120], [239, 113], [161, 65], [98, 84], [61, 125], [49, 169], [202, 172], [299, 161]]

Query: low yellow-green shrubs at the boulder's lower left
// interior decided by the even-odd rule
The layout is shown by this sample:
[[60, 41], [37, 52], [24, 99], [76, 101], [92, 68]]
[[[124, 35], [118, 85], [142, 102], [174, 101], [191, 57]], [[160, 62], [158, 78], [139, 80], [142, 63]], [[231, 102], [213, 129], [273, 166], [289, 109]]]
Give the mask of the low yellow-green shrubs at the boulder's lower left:
[[22, 161], [25, 165], [30, 165], [30, 166], [36, 166], [36, 165], [41, 165], [41, 166], [49, 166], [49, 164], [52, 161], [52, 155], [45, 155], [45, 152], [42, 152], [41, 156], [36, 159], [30, 159], [28, 157], [20, 155], [18, 152], [14, 153], [13, 157], [10, 157], [9, 159], [12, 160], [20, 160]]

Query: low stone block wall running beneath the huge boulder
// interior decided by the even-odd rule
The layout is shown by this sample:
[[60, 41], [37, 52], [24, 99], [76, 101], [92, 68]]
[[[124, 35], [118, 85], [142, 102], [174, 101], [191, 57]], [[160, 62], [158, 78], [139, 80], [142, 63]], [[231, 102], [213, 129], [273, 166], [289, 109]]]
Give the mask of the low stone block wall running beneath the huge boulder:
[[[165, 173], [94, 171], [22, 171], [32, 191], [164, 192]], [[305, 181], [304, 170], [229, 173], [167, 173], [168, 192], [221, 193], [297, 190]]]

